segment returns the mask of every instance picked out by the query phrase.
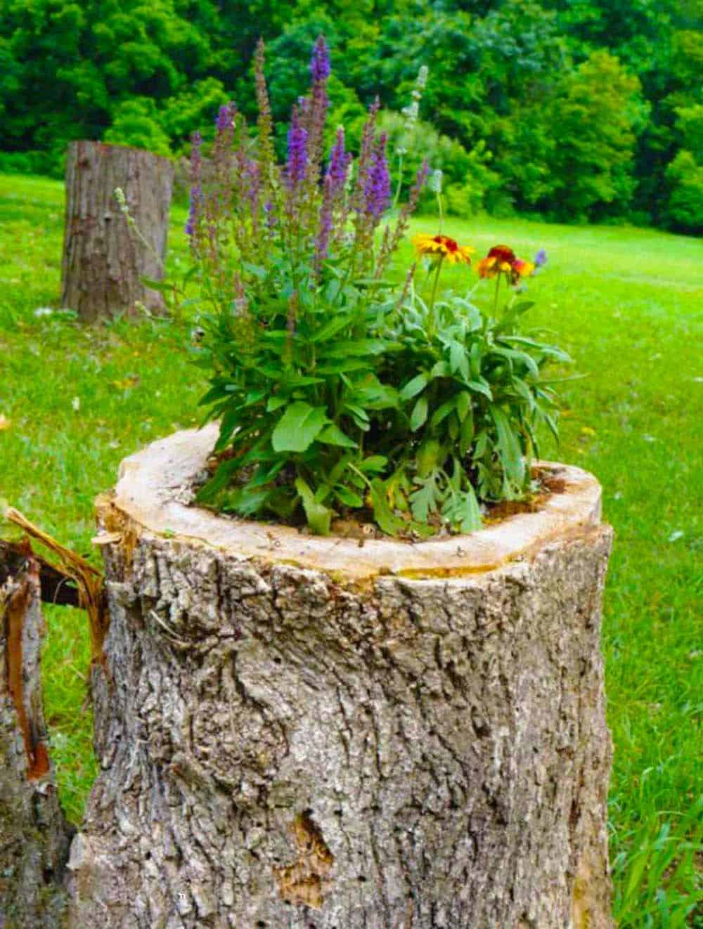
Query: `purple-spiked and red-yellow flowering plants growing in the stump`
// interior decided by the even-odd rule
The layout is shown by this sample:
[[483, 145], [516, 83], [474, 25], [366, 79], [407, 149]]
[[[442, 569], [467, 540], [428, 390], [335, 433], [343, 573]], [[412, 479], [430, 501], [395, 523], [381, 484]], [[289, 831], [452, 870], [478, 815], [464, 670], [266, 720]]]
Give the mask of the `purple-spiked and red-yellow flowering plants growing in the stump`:
[[[483, 504], [533, 489], [538, 427], [556, 435], [543, 372], [568, 359], [523, 331], [532, 304], [519, 293], [544, 255], [531, 263], [497, 246], [473, 281], [471, 248], [423, 235], [418, 261], [396, 282], [391, 259], [427, 163], [402, 198], [399, 176], [396, 201], [405, 202], [391, 218], [378, 103], [358, 157], [339, 127], [325, 159], [320, 37], [310, 93], [294, 104], [277, 164], [263, 64], [261, 45], [256, 134], [233, 104], [221, 107], [208, 177], [193, 141], [198, 363], [210, 376], [206, 420], [220, 423], [218, 465], [198, 499], [245, 517], [304, 520], [322, 534], [349, 515], [407, 537], [475, 530]], [[441, 203], [439, 177], [430, 186]], [[439, 287], [451, 264], [466, 268], [462, 294]]]

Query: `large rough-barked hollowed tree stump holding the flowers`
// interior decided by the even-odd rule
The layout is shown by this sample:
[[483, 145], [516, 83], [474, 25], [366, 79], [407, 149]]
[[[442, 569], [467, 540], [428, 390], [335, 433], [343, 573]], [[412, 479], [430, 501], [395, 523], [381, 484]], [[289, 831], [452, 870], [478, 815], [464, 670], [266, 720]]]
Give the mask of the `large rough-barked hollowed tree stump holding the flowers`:
[[216, 428], [99, 501], [72, 924], [612, 926], [597, 481], [549, 465], [537, 513], [360, 547], [179, 502]]

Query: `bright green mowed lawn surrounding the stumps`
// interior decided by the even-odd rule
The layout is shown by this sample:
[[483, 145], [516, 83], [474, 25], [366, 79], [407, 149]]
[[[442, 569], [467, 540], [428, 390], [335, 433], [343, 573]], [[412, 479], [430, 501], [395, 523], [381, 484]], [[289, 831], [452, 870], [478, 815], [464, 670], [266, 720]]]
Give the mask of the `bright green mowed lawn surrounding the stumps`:
[[[171, 268], [187, 266], [184, 218], [174, 208]], [[62, 224], [59, 183], [0, 177], [0, 415], [10, 421], [0, 497], [99, 564], [94, 496], [127, 454], [196, 423], [204, 381], [187, 326], [35, 315], [59, 307]], [[415, 228], [434, 231], [436, 220]], [[564, 384], [562, 447], [542, 454], [598, 476], [616, 530], [604, 600], [615, 916], [620, 927], [703, 927], [703, 243], [487, 217], [444, 231], [479, 254], [507, 242], [550, 256], [530, 281], [532, 323], [586, 376]], [[453, 277], [465, 286], [465, 270]], [[46, 616], [53, 758], [78, 820], [95, 775], [86, 622], [62, 608]]]

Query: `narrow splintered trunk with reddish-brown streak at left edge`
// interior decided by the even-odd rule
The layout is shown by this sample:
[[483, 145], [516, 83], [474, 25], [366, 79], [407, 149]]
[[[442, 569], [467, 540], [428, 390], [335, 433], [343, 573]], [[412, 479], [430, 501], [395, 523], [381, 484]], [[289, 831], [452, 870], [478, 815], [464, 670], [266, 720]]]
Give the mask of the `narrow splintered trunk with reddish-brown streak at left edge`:
[[0, 586], [0, 926], [57, 929], [69, 830], [48, 758], [40, 677], [39, 564]]

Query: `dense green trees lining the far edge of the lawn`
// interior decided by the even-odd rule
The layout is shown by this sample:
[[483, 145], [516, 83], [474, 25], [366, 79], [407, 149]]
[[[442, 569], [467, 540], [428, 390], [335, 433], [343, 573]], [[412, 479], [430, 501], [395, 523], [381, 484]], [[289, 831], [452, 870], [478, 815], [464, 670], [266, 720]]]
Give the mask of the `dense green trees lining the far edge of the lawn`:
[[259, 34], [285, 119], [321, 31], [348, 130], [428, 65], [453, 212], [703, 229], [703, 0], [2, 0], [0, 165], [60, 176], [77, 137], [187, 150], [227, 99], [253, 112]]

